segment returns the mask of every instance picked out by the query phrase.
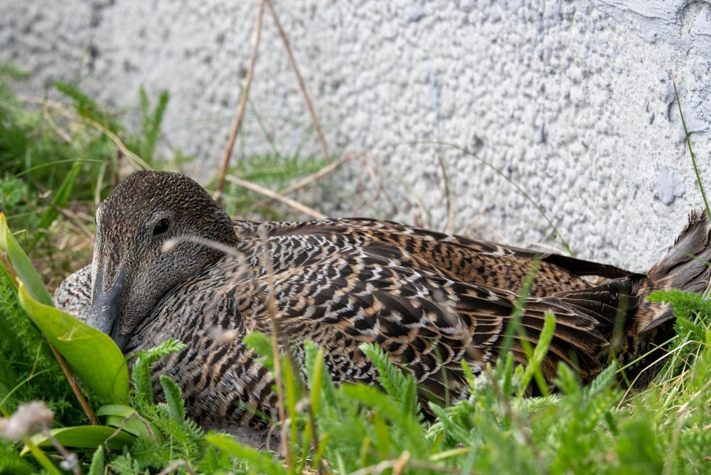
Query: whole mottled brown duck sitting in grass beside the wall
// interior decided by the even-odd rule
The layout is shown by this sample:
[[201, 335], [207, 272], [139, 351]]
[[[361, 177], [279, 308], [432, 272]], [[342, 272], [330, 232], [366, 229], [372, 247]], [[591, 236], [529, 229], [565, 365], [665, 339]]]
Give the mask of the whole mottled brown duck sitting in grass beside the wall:
[[[92, 264], [60, 285], [55, 304], [108, 333], [125, 354], [168, 338], [186, 343], [156, 373], [178, 382], [203, 425], [276, 417], [272, 377], [243, 343], [251, 331], [271, 332], [270, 277], [276, 318], [297, 358], [301, 343], [314, 341], [334, 380], [372, 384], [376, 370], [358, 346], [376, 343], [424, 393], [454, 398], [466, 390], [462, 360], [476, 373], [496, 363], [537, 258], [511, 350], [525, 363], [520, 341], [536, 343], [545, 313], [554, 314], [542, 363], [548, 382], [559, 361], [593, 378], [609, 363], [613, 335], [623, 364], [665, 341], [673, 314], [648, 294], [702, 292], [710, 278], [701, 261], [711, 260], [709, 223], [696, 212], [645, 274], [377, 220], [232, 221], [198, 183], [159, 171], [119, 183], [96, 223]], [[165, 252], [169, 240], [176, 244]]]

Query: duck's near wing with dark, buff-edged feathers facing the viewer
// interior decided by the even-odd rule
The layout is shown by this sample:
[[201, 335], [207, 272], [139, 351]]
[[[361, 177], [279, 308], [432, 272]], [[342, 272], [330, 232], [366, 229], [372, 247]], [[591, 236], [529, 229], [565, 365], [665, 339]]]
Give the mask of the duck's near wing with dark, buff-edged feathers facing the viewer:
[[[316, 233], [284, 233], [240, 245], [252, 275], [233, 294], [247, 329], [269, 333], [272, 328], [269, 272], [257, 264], [265, 242], [277, 318], [296, 346], [311, 340], [324, 348], [334, 380], [375, 383], [375, 369], [359, 348], [375, 343], [429, 393], [444, 398], [449, 390], [459, 397], [466, 385], [461, 361], [478, 372], [502, 351], [518, 294], [453, 279], [430, 260], [385, 240], [320, 227]], [[618, 279], [606, 287], [528, 297], [511, 347], [515, 360], [527, 361], [522, 341], [538, 342], [550, 312], [557, 325], [542, 363], [547, 380], [555, 376], [558, 361], [584, 378], [598, 373], [621, 296], [634, 301], [635, 289], [633, 280]]]

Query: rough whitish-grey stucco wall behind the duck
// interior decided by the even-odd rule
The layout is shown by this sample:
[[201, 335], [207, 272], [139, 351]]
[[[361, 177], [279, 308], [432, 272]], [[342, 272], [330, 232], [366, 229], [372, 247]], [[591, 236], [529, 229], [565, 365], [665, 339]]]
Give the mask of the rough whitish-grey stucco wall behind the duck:
[[[0, 58], [91, 95], [135, 105], [167, 88], [165, 131], [212, 171], [250, 54], [257, 1], [4, 0]], [[518, 245], [547, 224], [476, 151], [527, 191], [579, 257], [643, 269], [701, 206], [672, 103], [675, 75], [700, 172], [711, 187], [708, 1], [278, 1], [334, 150], [373, 151], [383, 191], [368, 213]], [[252, 102], [283, 152], [309, 116], [268, 14]], [[268, 151], [253, 114], [240, 151]], [[681, 137], [681, 139], [680, 139]], [[318, 152], [317, 142], [309, 150]], [[331, 177], [357, 186], [353, 166]], [[331, 183], [332, 185], [334, 183]], [[339, 195], [334, 195], [337, 201]], [[422, 215], [418, 202], [429, 211]], [[668, 203], [668, 204], [665, 204]], [[350, 201], [323, 207], [349, 213]], [[555, 243], [553, 243], [555, 244]]]

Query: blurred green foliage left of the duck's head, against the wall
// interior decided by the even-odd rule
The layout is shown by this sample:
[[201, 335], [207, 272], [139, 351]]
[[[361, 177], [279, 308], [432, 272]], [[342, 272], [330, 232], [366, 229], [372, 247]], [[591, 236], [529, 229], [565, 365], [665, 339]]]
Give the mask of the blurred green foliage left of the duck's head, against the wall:
[[[28, 231], [31, 238], [23, 242], [28, 252], [36, 252], [36, 248], [43, 252], [50, 247], [46, 237], [60, 211], [70, 206], [70, 201], [104, 198], [112, 186], [112, 180], [105, 178], [117, 174], [122, 160], [134, 166], [165, 163], [156, 145], [169, 94], [161, 92], [151, 108], [141, 87], [140, 124], [128, 127], [131, 111], [117, 114], [108, 110], [76, 84], [54, 85], [68, 104], [18, 99], [11, 82], [27, 76], [0, 63], [0, 210], [15, 228]], [[117, 141], [130, 156], [117, 151]], [[43, 246], [38, 247], [40, 243]]]

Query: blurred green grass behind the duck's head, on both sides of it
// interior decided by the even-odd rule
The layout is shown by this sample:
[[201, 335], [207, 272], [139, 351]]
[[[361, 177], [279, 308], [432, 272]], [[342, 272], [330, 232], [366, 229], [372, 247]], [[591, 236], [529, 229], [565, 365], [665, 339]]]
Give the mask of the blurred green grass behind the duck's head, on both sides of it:
[[[11, 85], [27, 77], [0, 63], [0, 211], [53, 288], [90, 260], [94, 210], [123, 176], [140, 168], [186, 171], [193, 157], [161, 138], [167, 91], [151, 98], [141, 87], [139, 107], [112, 110], [79, 85], [62, 82], [53, 86], [60, 101], [18, 97]], [[324, 166], [323, 159], [301, 154], [302, 144], [279, 153], [264, 127], [263, 132], [274, 152], [234, 159], [230, 174], [280, 191]], [[225, 207], [233, 215], [291, 216], [257, 193], [229, 183], [226, 191]]]

